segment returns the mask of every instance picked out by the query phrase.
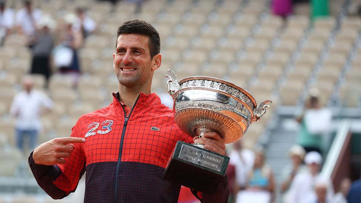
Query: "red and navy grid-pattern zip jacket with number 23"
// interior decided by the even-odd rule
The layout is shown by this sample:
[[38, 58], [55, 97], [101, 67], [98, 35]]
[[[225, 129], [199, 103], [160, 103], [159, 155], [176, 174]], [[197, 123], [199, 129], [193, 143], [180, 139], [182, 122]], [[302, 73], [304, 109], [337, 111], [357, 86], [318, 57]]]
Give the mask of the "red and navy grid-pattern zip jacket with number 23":
[[[174, 122], [173, 111], [155, 94], [140, 93], [126, 117], [114, 94], [108, 107], [87, 113], [72, 128], [76, 143], [64, 165], [29, 165], [36, 181], [52, 198], [75, 191], [86, 170], [84, 202], [177, 202], [181, 185], [162, 179], [178, 140], [191, 143]], [[227, 202], [227, 177], [216, 194], [192, 191], [202, 202]]]

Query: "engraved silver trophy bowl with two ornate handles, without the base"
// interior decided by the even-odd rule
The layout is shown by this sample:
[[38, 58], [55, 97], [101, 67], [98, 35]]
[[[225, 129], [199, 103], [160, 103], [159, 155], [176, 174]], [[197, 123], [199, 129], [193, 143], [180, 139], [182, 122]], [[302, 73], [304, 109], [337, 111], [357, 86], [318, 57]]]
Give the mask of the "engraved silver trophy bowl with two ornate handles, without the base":
[[257, 105], [246, 90], [222, 79], [194, 76], [177, 82], [173, 70], [168, 72], [175, 122], [193, 137], [215, 131], [225, 144], [236, 142], [266, 113], [269, 105], [265, 104], [272, 102], [265, 100]]

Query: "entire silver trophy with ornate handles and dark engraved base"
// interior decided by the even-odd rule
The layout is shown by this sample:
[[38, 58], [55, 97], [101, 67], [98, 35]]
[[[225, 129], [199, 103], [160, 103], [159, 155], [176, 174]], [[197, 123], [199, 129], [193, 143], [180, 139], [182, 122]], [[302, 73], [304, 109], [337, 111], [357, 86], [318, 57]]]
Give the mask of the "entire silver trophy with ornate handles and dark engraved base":
[[[265, 100], [257, 105], [243, 88], [222, 79], [194, 76], [178, 82], [173, 70], [168, 72], [167, 85], [174, 100], [175, 122], [192, 137], [215, 131], [225, 144], [236, 142], [252, 122], [266, 113], [269, 108], [266, 103], [272, 103]], [[178, 141], [164, 178], [213, 194], [225, 176], [228, 161], [229, 157], [206, 150], [203, 144]], [[185, 172], [187, 170], [191, 172]], [[197, 181], [187, 178], [192, 175]]]

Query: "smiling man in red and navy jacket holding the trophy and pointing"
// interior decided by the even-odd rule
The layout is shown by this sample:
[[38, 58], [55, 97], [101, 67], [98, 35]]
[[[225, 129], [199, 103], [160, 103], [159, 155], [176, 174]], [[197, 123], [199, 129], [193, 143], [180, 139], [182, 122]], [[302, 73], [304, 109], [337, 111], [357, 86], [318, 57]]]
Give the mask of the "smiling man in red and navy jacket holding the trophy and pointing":
[[[86, 173], [84, 202], [177, 202], [181, 185], [162, 179], [178, 140], [192, 142], [179, 130], [173, 111], [151, 93], [160, 68], [160, 38], [149, 23], [131, 20], [117, 31], [113, 68], [119, 92], [108, 107], [83, 115], [71, 137], [37, 147], [29, 165], [39, 185], [54, 199], [73, 192]], [[193, 138], [225, 154], [217, 133]], [[192, 190], [202, 202], [227, 202], [227, 177], [214, 195]]]

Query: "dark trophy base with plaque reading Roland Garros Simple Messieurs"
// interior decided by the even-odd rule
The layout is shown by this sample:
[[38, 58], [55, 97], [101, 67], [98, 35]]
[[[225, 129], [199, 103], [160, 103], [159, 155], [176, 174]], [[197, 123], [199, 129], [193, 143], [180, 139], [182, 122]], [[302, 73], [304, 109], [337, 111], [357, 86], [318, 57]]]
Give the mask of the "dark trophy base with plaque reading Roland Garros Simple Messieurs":
[[178, 141], [163, 178], [213, 195], [226, 175], [228, 163], [227, 156]]

